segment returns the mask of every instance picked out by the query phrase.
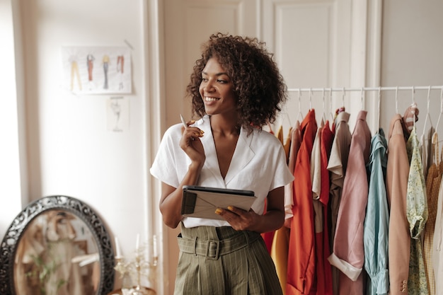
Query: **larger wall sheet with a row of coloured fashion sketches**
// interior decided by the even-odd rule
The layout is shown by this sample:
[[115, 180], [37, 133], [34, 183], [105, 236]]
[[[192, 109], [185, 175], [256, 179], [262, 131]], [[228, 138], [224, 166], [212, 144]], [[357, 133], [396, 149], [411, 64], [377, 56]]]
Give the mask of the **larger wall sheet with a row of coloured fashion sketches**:
[[76, 94], [131, 93], [128, 47], [62, 47], [65, 85]]

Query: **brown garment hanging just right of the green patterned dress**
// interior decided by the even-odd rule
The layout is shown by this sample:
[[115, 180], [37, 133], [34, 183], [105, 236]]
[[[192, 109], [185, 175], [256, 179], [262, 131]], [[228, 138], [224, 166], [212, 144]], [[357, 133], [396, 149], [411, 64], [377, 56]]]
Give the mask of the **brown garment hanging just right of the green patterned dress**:
[[[427, 291], [435, 295], [435, 276], [432, 267], [432, 244], [434, 243], [435, 219], [437, 217], [437, 203], [440, 182], [442, 181], [443, 161], [439, 153], [439, 142], [437, 132], [432, 134], [432, 156], [433, 162], [427, 171], [426, 195], [427, 195], [427, 221], [423, 234], [423, 260], [425, 262]], [[442, 154], [443, 156], [443, 154]]]

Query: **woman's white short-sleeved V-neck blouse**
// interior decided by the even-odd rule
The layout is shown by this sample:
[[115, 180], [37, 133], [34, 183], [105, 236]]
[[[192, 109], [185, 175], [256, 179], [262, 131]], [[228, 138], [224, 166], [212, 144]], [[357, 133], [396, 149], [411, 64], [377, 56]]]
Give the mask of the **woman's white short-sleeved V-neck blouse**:
[[[151, 175], [173, 187], [180, 185], [190, 165], [190, 158], [180, 149], [179, 145], [182, 126], [182, 124], [177, 124], [166, 130], [150, 169]], [[269, 132], [260, 132], [259, 130], [248, 135], [248, 131], [243, 128], [238, 137], [229, 170], [223, 179], [217, 160], [209, 116], [202, 117], [192, 126], [199, 127], [205, 132], [200, 139], [205, 148], [206, 161], [197, 185], [253, 190], [257, 199], [253, 203], [252, 209], [257, 214], [263, 214], [267, 193], [294, 180], [294, 176], [287, 167], [282, 143], [277, 137]], [[183, 224], [187, 228], [229, 226], [226, 221], [192, 217], [184, 217]]]

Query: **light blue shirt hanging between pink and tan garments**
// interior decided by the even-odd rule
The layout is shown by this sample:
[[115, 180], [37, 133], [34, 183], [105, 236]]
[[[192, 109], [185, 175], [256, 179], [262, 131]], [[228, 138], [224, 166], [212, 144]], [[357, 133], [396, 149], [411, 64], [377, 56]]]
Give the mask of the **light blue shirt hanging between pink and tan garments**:
[[388, 229], [389, 211], [386, 199], [386, 165], [388, 144], [384, 132], [372, 137], [369, 162], [369, 193], [364, 220], [364, 269], [369, 275], [368, 295], [389, 292]]

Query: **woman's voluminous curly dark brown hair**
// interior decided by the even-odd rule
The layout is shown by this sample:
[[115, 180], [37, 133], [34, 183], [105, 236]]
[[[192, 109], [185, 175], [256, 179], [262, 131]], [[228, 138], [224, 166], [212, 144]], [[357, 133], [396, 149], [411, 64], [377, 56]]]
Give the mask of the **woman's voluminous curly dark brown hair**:
[[251, 131], [274, 122], [277, 112], [287, 100], [287, 86], [273, 54], [267, 52], [265, 42], [255, 37], [222, 33], [209, 37], [202, 47], [202, 57], [195, 62], [186, 88], [192, 99], [192, 117], [206, 114], [199, 86], [202, 71], [212, 57], [217, 58], [233, 83], [238, 124]]

